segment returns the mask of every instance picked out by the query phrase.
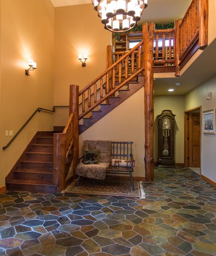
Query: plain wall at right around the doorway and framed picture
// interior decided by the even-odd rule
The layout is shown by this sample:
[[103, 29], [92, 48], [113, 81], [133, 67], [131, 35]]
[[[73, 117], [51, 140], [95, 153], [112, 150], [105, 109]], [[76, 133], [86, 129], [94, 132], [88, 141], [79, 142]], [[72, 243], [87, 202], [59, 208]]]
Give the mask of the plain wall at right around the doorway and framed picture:
[[[206, 100], [208, 92], [212, 100]], [[202, 107], [202, 111], [216, 108], [216, 76], [185, 96], [185, 110]], [[216, 134], [201, 133], [201, 173], [216, 181]]]

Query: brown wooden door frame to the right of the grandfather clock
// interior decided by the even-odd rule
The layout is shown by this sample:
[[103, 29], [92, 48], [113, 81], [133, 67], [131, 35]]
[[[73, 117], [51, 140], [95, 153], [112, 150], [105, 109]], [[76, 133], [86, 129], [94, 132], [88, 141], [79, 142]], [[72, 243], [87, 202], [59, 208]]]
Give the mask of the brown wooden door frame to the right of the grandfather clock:
[[[202, 134], [202, 106], [199, 107], [194, 107], [188, 110], [184, 111], [184, 165], [185, 167], [189, 167], [189, 160], [188, 160], [188, 154], [189, 154], [189, 150], [188, 150], [188, 126], [189, 126], [189, 121], [187, 118], [187, 114], [189, 112], [192, 112], [194, 110], [200, 110], [200, 171], [201, 171], [201, 134]], [[200, 172], [201, 175], [201, 172]]]

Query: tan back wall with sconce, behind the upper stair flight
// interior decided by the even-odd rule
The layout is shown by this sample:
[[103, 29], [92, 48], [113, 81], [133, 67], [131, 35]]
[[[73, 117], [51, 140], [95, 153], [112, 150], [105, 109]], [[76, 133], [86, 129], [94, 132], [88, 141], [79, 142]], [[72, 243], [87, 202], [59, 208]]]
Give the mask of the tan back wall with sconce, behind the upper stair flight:
[[[106, 69], [111, 32], [103, 27], [92, 4], [55, 8], [55, 105], [69, 104], [69, 85], [82, 89]], [[88, 54], [84, 68], [78, 53]], [[65, 125], [67, 110], [58, 111], [55, 125]]]

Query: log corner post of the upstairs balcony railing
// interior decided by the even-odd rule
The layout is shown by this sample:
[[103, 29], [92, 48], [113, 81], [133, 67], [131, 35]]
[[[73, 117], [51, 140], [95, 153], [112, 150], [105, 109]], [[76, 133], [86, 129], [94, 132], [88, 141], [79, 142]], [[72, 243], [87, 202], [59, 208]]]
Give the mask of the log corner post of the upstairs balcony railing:
[[175, 21], [174, 33], [174, 57], [175, 57], [175, 76], [180, 76], [180, 24], [182, 19]]

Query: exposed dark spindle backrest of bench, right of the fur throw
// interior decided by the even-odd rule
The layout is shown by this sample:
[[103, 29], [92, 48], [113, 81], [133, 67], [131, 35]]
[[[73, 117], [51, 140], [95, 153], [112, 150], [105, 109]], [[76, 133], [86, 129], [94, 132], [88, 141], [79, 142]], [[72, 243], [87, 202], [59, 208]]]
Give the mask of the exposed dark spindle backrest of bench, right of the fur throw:
[[132, 141], [111, 141], [111, 158], [129, 160], [132, 154]]

